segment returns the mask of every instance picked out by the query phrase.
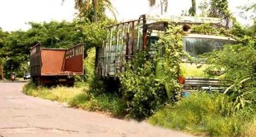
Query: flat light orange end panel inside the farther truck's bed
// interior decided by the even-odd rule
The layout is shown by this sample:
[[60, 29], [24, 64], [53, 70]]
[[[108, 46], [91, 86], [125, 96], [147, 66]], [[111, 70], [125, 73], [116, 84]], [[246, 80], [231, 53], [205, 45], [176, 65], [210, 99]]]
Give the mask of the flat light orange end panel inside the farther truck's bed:
[[41, 75], [59, 74], [64, 66], [65, 49], [41, 49]]

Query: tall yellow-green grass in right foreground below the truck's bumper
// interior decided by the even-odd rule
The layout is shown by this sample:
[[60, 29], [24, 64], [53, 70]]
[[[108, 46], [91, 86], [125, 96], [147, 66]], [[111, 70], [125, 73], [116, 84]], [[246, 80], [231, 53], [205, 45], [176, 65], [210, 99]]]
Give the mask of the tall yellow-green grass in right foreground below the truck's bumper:
[[209, 136], [239, 136], [245, 123], [242, 115], [231, 115], [229, 96], [195, 93], [180, 100], [176, 106], [166, 106], [148, 119], [165, 128], [179, 128]]

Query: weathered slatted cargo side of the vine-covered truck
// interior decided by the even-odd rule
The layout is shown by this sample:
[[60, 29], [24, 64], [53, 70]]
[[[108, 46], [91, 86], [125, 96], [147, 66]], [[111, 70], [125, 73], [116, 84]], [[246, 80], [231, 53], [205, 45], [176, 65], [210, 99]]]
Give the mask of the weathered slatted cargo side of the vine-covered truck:
[[96, 73], [101, 77], [117, 77], [137, 52], [143, 50], [143, 19], [108, 26], [107, 38], [97, 53]]

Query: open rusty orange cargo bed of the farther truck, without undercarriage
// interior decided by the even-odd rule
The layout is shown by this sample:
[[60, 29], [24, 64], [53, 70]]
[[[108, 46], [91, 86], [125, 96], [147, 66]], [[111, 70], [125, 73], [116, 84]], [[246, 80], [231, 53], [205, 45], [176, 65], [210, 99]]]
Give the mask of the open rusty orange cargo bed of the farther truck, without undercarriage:
[[31, 49], [31, 75], [64, 76], [84, 74], [84, 45], [71, 49], [46, 49], [37, 44]]

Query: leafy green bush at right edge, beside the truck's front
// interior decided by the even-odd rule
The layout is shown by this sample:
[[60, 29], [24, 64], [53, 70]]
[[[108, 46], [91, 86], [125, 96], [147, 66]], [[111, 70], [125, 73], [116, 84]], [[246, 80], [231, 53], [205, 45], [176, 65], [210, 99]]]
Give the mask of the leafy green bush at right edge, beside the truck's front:
[[230, 82], [226, 90], [234, 100], [234, 111], [256, 103], [256, 50], [252, 46], [226, 46], [223, 51], [215, 51], [208, 57], [213, 67], [225, 69], [224, 79]]

